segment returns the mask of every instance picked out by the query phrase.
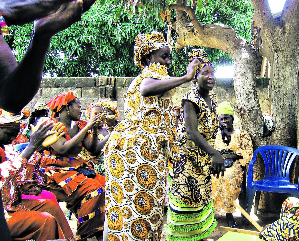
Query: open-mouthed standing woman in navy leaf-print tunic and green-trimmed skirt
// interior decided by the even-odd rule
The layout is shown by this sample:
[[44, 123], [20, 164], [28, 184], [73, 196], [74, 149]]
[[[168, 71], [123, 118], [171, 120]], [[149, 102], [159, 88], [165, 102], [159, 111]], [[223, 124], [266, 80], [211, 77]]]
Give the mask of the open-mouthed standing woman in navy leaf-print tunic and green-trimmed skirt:
[[[198, 241], [216, 227], [210, 174], [222, 171], [224, 161], [213, 148], [218, 128], [223, 141], [229, 143], [227, 129], [218, 122], [217, 97], [212, 91], [215, 75], [203, 49], [188, 53], [189, 62], [201, 62], [196, 71], [196, 86], [181, 100], [181, 118], [177, 128], [181, 159], [169, 165], [166, 240]], [[171, 178], [172, 177], [172, 178]]]

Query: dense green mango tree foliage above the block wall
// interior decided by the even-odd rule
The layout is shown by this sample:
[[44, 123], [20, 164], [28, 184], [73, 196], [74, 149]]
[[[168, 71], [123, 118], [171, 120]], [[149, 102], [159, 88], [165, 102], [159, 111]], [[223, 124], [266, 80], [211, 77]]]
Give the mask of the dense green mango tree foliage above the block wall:
[[[175, 21], [174, 11], [168, 9], [170, 3], [151, 0], [97, 1], [84, 14], [82, 21], [52, 38], [44, 73], [58, 77], [138, 75], [140, 69], [133, 64], [134, 37], [152, 30], [161, 31], [166, 36], [167, 17], [170, 23]], [[161, 11], [166, 10], [170, 16], [164, 22]], [[246, 0], [208, 0], [196, 13], [204, 23], [221, 22], [234, 28], [250, 28], [252, 7]], [[16, 36], [6, 36], [18, 61], [25, 53], [32, 30], [32, 23], [12, 26], [10, 34]], [[239, 33], [248, 40], [251, 37], [250, 31], [239, 30]], [[175, 30], [172, 30], [172, 36], [176, 39]], [[181, 76], [186, 72], [187, 51], [191, 48], [194, 47], [184, 47], [180, 53], [173, 51], [170, 75]], [[212, 48], [206, 48], [206, 51], [215, 66], [232, 63], [231, 57], [223, 51]]]

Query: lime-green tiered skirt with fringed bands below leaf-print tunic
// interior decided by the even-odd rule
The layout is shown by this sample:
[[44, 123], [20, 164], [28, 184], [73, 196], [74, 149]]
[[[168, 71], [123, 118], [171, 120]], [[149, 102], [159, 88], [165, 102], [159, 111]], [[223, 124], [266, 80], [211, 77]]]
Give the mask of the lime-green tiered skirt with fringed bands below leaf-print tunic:
[[199, 241], [208, 237], [217, 225], [214, 214], [213, 200], [202, 207], [181, 207], [170, 198], [166, 240]]

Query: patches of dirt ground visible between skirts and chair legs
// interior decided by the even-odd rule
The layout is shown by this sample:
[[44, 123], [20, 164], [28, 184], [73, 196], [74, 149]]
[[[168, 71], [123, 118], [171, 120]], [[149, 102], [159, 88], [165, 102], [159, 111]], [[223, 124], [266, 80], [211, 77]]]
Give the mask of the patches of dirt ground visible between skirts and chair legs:
[[[62, 211], [65, 213], [65, 216], [68, 216], [68, 210], [65, 207], [65, 203], [64, 202], [60, 202], [59, 203]], [[238, 225], [238, 228], [242, 228], [242, 229], [247, 229], [247, 230], [253, 230], [253, 231], [257, 231], [256, 228], [254, 228], [253, 225], [249, 224], [249, 226], [246, 228], [244, 225], [242, 225], [242, 218], [241, 218], [241, 213], [239, 210], [237, 210], [237, 212], [233, 213], [234, 215], [234, 219]], [[253, 214], [253, 208], [251, 211], [251, 217], [257, 221], [257, 223], [260, 226], [265, 226], [269, 223], [272, 223], [274, 221], [276, 221], [279, 218], [279, 215], [276, 214], [272, 214], [272, 213], [263, 213], [261, 211], [259, 211], [257, 213], [257, 215]], [[215, 218], [217, 220], [217, 227], [214, 230], [214, 232], [212, 234], [210, 234], [210, 236], [208, 238], [206, 238], [207, 241], [216, 241], [218, 240], [220, 237], [222, 237], [222, 235], [224, 235], [226, 232], [225, 231], [221, 231], [220, 230], [220, 226], [227, 226], [226, 221], [225, 221], [225, 214], [220, 214], [220, 213], [215, 213]], [[76, 234], [76, 227], [77, 227], [77, 219], [74, 215], [72, 215], [71, 220], [68, 221], [72, 231], [74, 232], [74, 234]], [[163, 219], [163, 223], [164, 223], [164, 228], [163, 228], [163, 232], [162, 232], [162, 237], [161, 237], [161, 241], [165, 241], [165, 224], [166, 224], [166, 212], [164, 213], [164, 219]], [[96, 238], [90, 238], [88, 239], [88, 241], [97, 241]]]

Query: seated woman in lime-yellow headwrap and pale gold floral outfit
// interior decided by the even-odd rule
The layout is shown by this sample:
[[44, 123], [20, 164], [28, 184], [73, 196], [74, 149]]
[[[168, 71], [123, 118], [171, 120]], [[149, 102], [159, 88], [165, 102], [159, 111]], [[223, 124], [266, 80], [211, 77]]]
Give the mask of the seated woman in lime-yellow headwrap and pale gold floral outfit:
[[212, 195], [214, 207], [219, 213], [226, 213], [228, 227], [236, 228], [233, 212], [236, 211], [233, 205], [241, 192], [243, 170], [252, 159], [252, 141], [247, 131], [234, 129], [234, 112], [230, 103], [224, 101], [217, 107], [218, 119], [226, 125], [231, 135], [231, 142], [226, 145], [221, 136], [217, 133], [214, 148], [220, 152], [225, 160], [224, 176], [216, 179], [212, 176]]

